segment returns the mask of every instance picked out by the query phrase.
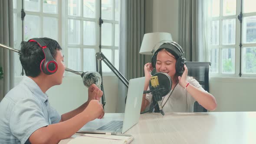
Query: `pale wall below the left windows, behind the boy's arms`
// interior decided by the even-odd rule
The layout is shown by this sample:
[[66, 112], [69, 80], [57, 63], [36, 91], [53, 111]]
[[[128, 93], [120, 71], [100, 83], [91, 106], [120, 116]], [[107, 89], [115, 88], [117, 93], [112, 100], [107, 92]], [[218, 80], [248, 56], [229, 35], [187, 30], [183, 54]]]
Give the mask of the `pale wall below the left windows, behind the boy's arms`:
[[[22, 77], [15, 79], [17, 85]], [[116, 111], [118, 78], [115, 75], [103, 76], [103, 87], [106, 98], [105, 112]], [[88, 99], [88, 88], [83, 85], [81, 76], [66, 76], [61, 85], [50, 88], [47, 92], [50, 104], [59, 114], [71, 111], [82, 105]]]

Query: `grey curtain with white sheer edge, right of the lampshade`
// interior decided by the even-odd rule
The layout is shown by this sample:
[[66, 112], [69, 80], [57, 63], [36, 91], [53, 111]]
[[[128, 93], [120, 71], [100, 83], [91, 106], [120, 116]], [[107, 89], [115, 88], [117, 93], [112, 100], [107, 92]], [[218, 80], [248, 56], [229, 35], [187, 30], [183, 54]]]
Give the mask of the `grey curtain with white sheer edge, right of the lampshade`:
[[207, 62], [208, 0], [179, 1], [179, 44], [187, 61]]

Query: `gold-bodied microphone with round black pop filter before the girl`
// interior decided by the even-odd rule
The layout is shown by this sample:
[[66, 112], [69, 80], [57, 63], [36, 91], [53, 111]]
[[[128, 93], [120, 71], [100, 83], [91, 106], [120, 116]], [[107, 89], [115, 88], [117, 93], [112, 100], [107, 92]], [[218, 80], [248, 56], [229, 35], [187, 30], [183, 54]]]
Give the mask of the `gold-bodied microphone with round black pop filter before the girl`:
[[162, 97], [167, 95], [171, 91], [171, 77], [164, 72], [155, 73], [149, 82], [149, 91], [143, 93], [151, 93], [153, 95], [153, 105], [158, 104], [155, 108], [155, 112], [160, 112], [164, 115], [162, 108]]

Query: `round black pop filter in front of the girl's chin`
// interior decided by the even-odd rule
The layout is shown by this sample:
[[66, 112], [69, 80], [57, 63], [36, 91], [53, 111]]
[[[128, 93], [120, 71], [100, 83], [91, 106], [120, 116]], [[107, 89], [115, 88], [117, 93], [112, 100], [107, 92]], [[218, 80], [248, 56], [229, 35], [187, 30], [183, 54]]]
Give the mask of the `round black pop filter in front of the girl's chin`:
[[[158, 76], [158, 81], [159, 81], [159, 88], [157, 92], [158, 96], [163, 97], [167, 95], [169, 92], [171, 92], [171, 86], [172, 86], [171, 77], [167, 75], [167, 73], [157, 72], [152, 76]], [[150, 90], [154, 89], [151, 85], [151, 82], [149, 82], [149, 89]]]

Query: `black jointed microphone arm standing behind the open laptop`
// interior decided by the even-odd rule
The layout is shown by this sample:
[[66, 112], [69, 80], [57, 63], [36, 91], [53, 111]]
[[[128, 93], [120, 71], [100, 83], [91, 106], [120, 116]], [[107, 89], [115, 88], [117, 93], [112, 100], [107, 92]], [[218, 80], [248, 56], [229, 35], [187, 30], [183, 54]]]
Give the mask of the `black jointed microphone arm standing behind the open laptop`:
[[[100, 73], [100, 75], [102, 76], [102, 70], [100, 69], [98, 71], [98, 61], [100, 62], [101, 64], [101, 61], [103, 61], [109, 69], [112, 70], [112, 72], [115, 73], [115, 75], [118, 77], [118, 79], [121, 80], [121, 82], [128, 88], [128, 85], [129, 85], [129, 82], [127, 79], [125, 79], [124, 75], [122, 75], [116, 68], [114, 65], [112, 65], [111, 62], [109, 62], [109, 60], [103, 55], [102, 52], [97, 52], [96, 53], [96, 70], [98, 73]], [[101, 65], [100, 65], [100, 68], [101, 68]], [[103, 79], [103, 77], [102, 77]], [[105, 95], [104, 95], [104, 88], [103, 88], [103, 80], [102, 80], [102, 85], [101, 85], [101, 89], [102, 89], [102, 92], [103, 92], [103, 95], [102, 95], [102, 105], [103, 105], [103, 108], [104, 108], [104, 105], [106, 104], [105, 102]]]

